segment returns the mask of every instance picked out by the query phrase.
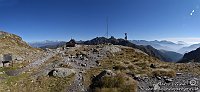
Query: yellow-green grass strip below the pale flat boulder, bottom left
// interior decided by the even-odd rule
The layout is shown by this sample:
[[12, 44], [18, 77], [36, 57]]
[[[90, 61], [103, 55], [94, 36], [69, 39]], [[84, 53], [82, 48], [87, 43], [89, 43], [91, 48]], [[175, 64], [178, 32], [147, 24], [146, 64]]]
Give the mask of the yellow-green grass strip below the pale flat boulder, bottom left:
[[36, 80], [26, 78], [10, 89], [12, 92], [64, 92], [73, 78], [74, 75], [66, 78], [40, 76]]

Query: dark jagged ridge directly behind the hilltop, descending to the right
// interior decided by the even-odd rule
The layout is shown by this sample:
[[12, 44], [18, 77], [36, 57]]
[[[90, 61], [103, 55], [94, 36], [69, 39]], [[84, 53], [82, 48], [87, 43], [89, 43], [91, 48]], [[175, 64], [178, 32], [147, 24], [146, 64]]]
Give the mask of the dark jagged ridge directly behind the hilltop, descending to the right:
[[137, 49], [147, 53], [148, 55], [150, 55], [152, 57], [156, 57], [162, 61], [167, 61], [167, 62], [174, 61], [174, 59], [172, 59], [171, 57], [168, 57], [167, 55], [165, 55], [165, 53], [153, 48], [150, 45], [147, 45], [147, 46], [136, 45], [134, 43], [129, 42], [128, 40], [116, 39], [113, 36], [111, 38], [96, 37], [92, 40], [88, 40], [88, 41], [84, 42], [84, 44], [86, 44], [86, 45], [97, 45], [97, 44], [105, 44], [105, 43], [111, 43], [113, 45], [122, 45], [122, 46], [137, 48]]

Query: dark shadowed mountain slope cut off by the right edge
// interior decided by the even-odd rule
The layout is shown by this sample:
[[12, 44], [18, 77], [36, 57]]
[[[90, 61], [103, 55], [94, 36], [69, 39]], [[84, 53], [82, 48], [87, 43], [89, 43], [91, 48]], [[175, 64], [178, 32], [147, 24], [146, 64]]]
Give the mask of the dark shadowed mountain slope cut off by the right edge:
[[183, 58], [179, 61], [180, 63], [188, 63], [188, 62], [198, 62], [200, 63], [200, 48], [197, 48], [194, 51], [188, 52], [184, 54]]

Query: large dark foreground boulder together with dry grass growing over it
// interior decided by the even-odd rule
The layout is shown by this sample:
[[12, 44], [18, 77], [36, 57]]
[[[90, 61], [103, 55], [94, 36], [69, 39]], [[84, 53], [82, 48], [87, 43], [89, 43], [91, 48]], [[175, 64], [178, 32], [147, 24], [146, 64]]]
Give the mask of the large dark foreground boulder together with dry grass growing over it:
[[90, 85], [91, 92], [98, 90], [111, 92], [113, 89], [116, 89], [116, 92], [138, 92], [137, 88], [137, 82], [131, 77], [124, 73], [114, 73], [111, 70], [104, 70], [99, 75], [94, 76]]

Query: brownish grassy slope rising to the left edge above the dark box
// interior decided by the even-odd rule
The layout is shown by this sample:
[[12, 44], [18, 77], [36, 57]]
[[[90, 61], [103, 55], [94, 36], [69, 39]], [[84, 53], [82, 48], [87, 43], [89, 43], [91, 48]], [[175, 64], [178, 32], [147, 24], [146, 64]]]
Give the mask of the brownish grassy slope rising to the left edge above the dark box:
[[26, 60], [28, 62], [37, 56], [36, 53], [39, 55], [42, 52], [40, 49], [30, 47], [21, 37], [3, 31], [0, 31], [0, 43], [0, 60], [3, 59], [4, 54], [12, 54], [14, 61], [23, 62]]

